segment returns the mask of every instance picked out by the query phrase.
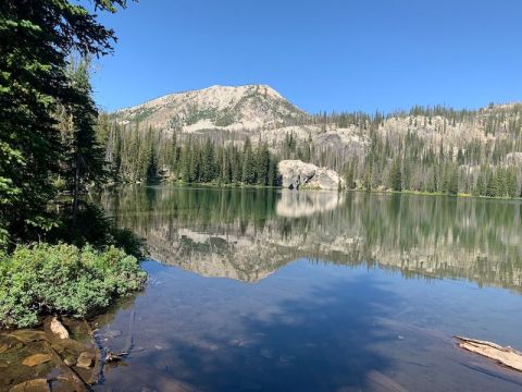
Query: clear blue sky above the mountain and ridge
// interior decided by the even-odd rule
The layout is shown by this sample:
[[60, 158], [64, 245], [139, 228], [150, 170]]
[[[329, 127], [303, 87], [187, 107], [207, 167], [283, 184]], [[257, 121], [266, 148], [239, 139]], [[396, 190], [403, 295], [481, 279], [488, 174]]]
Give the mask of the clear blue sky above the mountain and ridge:
[[522, 100], [522, 0], [141, 0], [100, 15], [104, 110], [268, 84], [310, 111]]

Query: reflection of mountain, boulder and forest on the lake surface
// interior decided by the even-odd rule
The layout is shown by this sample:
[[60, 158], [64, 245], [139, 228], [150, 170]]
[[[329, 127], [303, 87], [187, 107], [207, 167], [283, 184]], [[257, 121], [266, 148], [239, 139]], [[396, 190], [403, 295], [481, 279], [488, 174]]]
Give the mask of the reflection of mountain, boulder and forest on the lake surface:
[[102, 204], [154, 259], [204, 277], [256, 282], [308, 258], [522, 289], [519, 201], [158, 186]]

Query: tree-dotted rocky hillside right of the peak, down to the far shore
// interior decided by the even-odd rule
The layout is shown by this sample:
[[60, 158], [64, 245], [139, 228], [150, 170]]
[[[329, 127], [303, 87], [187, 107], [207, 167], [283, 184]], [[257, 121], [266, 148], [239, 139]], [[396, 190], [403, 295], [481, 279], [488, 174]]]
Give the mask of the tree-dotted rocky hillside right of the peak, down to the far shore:
[[[321, 113], [308, 124], [323, 130], [313, 138], [288, 133], [277, 146], [281, 157], [332, 168], [348, 188], [522, 196], [522, 105]], [[328, 142], [327, 131], [346, 127], [353, 143]]]

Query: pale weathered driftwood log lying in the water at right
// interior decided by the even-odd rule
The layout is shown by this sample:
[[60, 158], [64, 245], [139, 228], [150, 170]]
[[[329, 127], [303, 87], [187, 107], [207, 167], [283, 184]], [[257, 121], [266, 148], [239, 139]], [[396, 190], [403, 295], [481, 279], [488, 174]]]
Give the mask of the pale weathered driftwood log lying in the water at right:
[[455, 336], [455, 339], [459, 342], [459, 347], [463, 350], [485, 356], [511, 369], [522, 371], [522, 353], [517, 350], [464, 336]]

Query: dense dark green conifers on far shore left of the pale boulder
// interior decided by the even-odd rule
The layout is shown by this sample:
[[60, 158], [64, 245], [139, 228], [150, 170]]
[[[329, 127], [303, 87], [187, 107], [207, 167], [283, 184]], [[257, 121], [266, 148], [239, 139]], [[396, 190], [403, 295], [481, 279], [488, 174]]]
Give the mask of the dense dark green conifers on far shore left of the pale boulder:
[[216, 183], [274, 186], [277, 158], [266, 143], [217, 143], [210, 137], [181, 137], [177, 132], [132, 128], [102, 118], [98, 135], [105, 166], [115, 182]]

